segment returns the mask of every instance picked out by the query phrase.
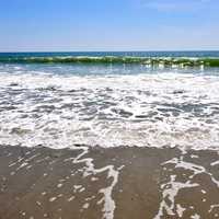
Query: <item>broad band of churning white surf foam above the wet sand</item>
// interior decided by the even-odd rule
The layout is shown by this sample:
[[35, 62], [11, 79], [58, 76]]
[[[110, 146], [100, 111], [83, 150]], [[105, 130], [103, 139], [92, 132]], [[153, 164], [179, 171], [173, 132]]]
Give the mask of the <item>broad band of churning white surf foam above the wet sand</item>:
[[216, 76], [1, 73], [0, 143], [216, 149], [218, 93]]

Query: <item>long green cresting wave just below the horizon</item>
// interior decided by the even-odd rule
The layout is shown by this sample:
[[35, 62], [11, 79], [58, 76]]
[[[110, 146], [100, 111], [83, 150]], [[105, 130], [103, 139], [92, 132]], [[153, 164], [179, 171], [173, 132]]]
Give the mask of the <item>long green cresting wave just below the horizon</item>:
[[219, 58], [149, 58], [131, 56], [0, 57], [1, 64], [136, 64], [149, 66], [219, 67]]

